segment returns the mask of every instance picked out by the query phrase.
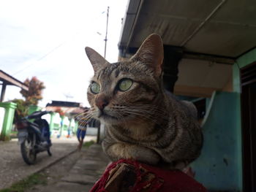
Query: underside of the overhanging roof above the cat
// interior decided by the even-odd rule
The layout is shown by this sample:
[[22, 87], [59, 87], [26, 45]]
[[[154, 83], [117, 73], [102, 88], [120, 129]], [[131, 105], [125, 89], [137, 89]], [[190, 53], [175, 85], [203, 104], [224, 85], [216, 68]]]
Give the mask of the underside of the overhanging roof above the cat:
[[165, 45], [236, 58], [256, 45], [256, 1], [129, 1], [120, 48], [139, 47], [149, 34]]

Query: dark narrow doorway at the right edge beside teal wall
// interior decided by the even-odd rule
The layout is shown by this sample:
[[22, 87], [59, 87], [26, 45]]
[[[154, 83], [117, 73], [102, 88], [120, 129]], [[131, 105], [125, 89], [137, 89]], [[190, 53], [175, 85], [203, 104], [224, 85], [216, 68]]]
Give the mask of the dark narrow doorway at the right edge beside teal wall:
[[241, 69], [244, 191], [256, 191], [256, 62]]

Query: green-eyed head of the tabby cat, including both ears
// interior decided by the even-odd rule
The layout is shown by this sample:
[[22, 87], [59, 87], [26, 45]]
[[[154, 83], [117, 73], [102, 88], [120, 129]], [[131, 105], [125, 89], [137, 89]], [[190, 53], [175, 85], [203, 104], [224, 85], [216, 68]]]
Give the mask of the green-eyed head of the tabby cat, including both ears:
[[91, 116], [103, 123], [121, 124], [154, 117], [162, 91], [162, 39], [151, 34], [128, 61], [108, 63], [86, 47], [94, 69], [87, 97]]

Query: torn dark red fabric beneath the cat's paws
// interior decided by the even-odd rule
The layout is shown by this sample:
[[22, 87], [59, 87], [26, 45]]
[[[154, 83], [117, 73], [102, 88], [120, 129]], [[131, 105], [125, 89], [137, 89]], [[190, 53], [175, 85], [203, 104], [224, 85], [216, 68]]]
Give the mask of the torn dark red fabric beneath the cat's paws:
[[204, 188], [203, 185], [197, 183], [196, 180], [189, 177], [184, 172], [159, 169], [155, 166], [148, 166], [147, 164], [140, 164], [138, 161], [127, 159], [121, 159], [110, 164], [102, 177], [97, 181], [97, 183], [95, 183], [93, 188], [91, 188], [90, 192], [111, 192], [106, 191], [104, 186], [108, 180], [110, 170], [115, 168], [116, 165], [120, 163], [132, 164], [136, 169], [137, 180], [134, 187], [129, 192], [140, 191], [143, 187], [148, 185], [148, 182], [141, 182], [143, 174], [140, 173], [140, 167], [147, 169], [148, 172], [151, 172], [157, 176], [154, 178], [154, 180], [150, 181], [151, 192], [206, 192], [206, 188]]

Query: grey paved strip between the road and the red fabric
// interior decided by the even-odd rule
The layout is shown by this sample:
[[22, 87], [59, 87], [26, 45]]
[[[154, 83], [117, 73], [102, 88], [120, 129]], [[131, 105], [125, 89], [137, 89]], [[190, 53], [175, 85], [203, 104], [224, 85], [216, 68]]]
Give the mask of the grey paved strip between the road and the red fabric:
[[37, 185], [26, 192], [90, 191], [109, 162], [100, 145], [91, 145], [45, 169], [48, 185]]

